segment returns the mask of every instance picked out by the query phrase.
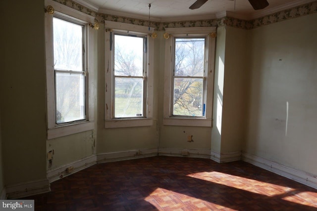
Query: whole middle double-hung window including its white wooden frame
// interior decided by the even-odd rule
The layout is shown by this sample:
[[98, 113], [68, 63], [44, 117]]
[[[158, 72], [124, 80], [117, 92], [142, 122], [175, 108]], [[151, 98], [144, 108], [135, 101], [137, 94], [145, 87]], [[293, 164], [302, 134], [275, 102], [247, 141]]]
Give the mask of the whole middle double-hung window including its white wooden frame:
[[153, 29], [106, 21], [106, 128], [153, 124]]

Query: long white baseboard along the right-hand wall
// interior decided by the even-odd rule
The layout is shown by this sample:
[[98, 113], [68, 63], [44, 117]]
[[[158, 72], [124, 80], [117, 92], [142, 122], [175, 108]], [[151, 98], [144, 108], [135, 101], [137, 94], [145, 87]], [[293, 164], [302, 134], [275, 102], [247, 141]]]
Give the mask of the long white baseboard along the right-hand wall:
[[256, 155], [242, 153], [242, 160], [262, 169], [269, 170], [286, 178], [317, 189], [317, 175], [283, 166], [282, 164], [268, 161]]

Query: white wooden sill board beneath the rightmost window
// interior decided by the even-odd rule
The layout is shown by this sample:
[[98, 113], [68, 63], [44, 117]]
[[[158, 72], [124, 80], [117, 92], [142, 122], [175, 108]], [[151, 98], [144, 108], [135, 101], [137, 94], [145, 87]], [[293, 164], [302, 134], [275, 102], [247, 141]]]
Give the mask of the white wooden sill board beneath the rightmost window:
[[211, 127], [211, 119], [164, 118], [165, 126]]

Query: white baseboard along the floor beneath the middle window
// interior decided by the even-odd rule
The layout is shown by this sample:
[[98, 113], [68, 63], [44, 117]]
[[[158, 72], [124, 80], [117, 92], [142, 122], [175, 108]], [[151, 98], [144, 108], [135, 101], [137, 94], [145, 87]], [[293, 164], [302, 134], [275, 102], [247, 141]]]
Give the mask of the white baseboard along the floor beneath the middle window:
[[102, 153], [97, 155], [97, 163], [132, 160], [154, 156], [158, 156], [158, 148]]

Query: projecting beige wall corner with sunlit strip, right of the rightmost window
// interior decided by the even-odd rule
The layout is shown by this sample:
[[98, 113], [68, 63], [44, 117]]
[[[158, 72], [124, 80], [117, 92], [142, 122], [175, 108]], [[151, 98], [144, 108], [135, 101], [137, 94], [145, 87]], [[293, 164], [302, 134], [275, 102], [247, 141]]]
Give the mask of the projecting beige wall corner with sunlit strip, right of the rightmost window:
[[211, 150], [240, 152], [247, 112], [247, 31], [217, 28]]

